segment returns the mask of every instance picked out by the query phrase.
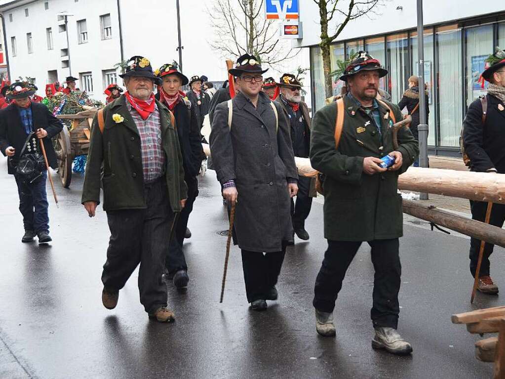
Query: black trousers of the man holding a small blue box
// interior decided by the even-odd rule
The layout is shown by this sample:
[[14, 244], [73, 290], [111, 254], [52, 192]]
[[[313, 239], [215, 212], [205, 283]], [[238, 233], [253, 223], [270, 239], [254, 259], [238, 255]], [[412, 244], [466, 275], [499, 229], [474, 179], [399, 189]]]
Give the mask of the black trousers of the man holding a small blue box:
[[[322, 312], [333, 312], [342, 280], [361, 242], [330, 241], [323, 264], [316, 278], [314, 307]], [[397, 327], [398, 291], [400, 290], [401, 265], [398, 239], [375, 240], [372, 247], [372, 263], [375, 269], [373, 306], [370, 317], [374, 326]]]

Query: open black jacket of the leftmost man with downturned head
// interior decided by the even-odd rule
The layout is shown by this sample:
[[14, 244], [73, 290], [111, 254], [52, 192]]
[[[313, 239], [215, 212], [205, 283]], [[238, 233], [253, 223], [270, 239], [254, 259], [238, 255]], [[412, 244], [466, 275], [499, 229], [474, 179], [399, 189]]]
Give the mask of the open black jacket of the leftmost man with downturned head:
[[[49, 112], [45, 105], [32, 102], [30, 107], [33, 117], [33, 131], [42, 128], [47, 132], [47, 137], [44, 138], [45, 154], [47, 155], [49, 166], [57, 168], [58, 161], [51, 138], [63, 129], [63, 124]], [[6, 155], [5, 150], [9, 146], [16, 149], [14, 157], [9, 158], [10, 164], [8, 165], [8, 170], [10, 174], [15, 173], [15, 166], [27, 137], [25, 127], [21, 122], [18, 106], [11, 104], [7, 108], [2, 109], [0, 111], [0, 149], [4, 155]]]

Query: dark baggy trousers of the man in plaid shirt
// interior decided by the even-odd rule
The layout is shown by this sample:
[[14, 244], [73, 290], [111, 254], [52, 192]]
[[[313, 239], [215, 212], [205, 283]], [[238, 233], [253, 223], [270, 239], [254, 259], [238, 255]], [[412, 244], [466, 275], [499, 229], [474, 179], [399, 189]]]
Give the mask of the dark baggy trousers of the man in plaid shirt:
[[164, 178], [144, 185], [144, 196], [146, 209], [107, 212], [111, 238], [102, 282], [106, 290], [119, 291], [140, 263], [140, 303], [152, 313], [167, 306], [167, 286], [161, 277], [174, 213]]

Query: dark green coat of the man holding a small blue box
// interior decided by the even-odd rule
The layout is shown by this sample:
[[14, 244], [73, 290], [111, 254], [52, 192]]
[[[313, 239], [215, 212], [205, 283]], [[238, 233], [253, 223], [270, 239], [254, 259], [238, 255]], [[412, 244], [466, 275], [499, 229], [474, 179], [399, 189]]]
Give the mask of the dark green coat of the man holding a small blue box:
[[[396, 121], [402, 115], [396, 105], [386, 102]], [[344, 123], [340, 144], [335, 150], [337, 106], [329, 104], [312, 120], [312, 166], [326, 175], [324, 181], [324, 234], [334, 241], [373, 241], [399, 238], [403, 234], [398, 175], [417, 159], [419, 147], [410, 129], [398, 131], [398, 151], [403, 165], [398, 171], [375, 175], [363, 172], [365, 157], [382, 158], [392, 152], [393, 124], [389, 111], [379, 103], [383, 148], [372, 115], [351, 98], [344, 97]]]

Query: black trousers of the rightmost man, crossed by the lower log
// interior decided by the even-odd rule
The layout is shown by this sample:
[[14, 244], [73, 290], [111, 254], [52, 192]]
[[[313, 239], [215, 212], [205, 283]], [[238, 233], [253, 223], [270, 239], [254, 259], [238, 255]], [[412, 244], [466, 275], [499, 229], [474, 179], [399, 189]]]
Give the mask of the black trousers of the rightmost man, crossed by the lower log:
[[[472, 219], [484, 222], [486, 219], [487, 203], [481, 201], [470, 201], [472, 210]], [[489, 223], [494, 226], [502, 227], [505, 221], [505, 205], [493, 204], [491, 209], [491, 217]], [[480, 266], [479, 276], [489, 275], [489, 256], [492, 254], [494, 245], [486, 244], [482, 255], [482, 264]], [[477, 261], [479, 260], [480, 240], [475, 238], [470, 239], [470, 272], [475, 277], [477, 269]]]

